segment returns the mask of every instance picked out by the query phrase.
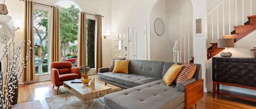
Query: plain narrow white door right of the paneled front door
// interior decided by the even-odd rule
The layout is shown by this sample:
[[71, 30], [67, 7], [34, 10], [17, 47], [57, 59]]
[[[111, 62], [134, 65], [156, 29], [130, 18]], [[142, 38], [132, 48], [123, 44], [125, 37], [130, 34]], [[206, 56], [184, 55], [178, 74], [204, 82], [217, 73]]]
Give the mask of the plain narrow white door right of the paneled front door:
[[145, 27], [134, 28], [134, 59], [147, 60], [147, 35]]

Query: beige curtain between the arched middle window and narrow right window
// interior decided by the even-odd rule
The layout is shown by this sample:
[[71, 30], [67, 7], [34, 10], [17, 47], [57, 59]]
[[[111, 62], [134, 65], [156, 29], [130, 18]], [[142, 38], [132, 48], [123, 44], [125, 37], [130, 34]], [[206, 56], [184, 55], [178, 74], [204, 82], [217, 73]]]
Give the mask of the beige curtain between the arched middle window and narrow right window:
[[78, 66], [86, 65], [86, 13], [80, 12]]

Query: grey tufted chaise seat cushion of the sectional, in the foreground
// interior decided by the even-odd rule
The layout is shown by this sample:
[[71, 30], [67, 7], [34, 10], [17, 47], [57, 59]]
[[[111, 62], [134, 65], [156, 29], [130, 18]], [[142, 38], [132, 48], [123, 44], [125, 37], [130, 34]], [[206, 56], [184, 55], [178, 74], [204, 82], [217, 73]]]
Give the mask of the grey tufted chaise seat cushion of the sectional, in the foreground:
[[120, 109], [176, 108], [184, 102], [184, 92], [178, 92], [175, 85], [166, 86], [163, 80], [111, 93], [104, 97], [105, 105]]

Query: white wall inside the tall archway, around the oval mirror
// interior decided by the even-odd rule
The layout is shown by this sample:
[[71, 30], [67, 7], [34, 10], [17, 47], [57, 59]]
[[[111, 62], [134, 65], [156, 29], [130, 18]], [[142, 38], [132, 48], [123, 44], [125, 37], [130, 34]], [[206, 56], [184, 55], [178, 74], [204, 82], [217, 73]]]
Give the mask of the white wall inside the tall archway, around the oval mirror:
[[[162, 18], [164, 21], [165, 33], [163, 36], [158, 36], [154, 31], [153, 25], [156, 18]], [[150, 24], [150, 59], [155, 61], [173, 61], [172, 48], [175, 41], [193, 27], [193, 7], [191, 1], [158, 0], [152, 8]], [[190, 38], [192, 34], [190, 33]], [[188, 46], [187, 43], [186, 46]], [[190, 46], [190, 49], [192, 49], [192, 46]]]

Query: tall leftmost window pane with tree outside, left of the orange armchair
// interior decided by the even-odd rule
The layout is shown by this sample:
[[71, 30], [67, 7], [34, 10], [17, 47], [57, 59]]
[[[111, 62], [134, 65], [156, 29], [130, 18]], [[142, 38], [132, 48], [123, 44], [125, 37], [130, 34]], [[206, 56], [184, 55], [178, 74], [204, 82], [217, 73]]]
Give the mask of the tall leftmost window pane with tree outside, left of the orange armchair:
[[48, 72], [48, 21], [49, 12], [34, 10], [35, 74]]

